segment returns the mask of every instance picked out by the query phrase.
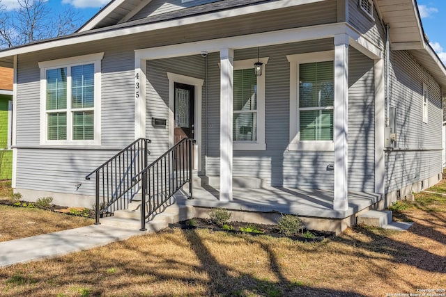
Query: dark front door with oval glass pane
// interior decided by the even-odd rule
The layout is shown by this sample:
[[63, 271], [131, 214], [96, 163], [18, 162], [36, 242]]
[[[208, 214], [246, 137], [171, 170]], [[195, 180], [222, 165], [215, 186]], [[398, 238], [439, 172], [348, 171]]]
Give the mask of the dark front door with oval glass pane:
[[[174, 84], [174, 144], [183, 138], [194, 138], [195, 87], [184, 83]], [[194, 164], [194, 145], [192, 145], [192, 164]], [[189, 147], [178, 147], [176, 169], [187, 169]], [[187, 161], [185, 161], [187, 159]]]

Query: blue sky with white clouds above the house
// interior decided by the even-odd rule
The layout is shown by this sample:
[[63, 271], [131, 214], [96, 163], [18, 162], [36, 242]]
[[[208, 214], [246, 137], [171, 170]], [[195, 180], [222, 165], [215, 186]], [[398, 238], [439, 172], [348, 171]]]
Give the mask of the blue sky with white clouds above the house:
[[[109, 0], [47, 0], [55, 10], [72, 6], [79, 11], [83, 23], [91, 19]], [[392, 1], [392, 0], [387, 0]], [[17, 7], [17, 0], [0, 0], [7, 9]], [[446, 0], [417, 0], [424, 33], [433, 50], [446, 65]]]

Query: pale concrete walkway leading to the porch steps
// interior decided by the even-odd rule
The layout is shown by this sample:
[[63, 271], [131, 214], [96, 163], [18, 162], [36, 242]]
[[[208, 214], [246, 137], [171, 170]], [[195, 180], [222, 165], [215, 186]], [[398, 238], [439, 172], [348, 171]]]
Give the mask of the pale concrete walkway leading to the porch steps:
[[0, 268], [16, 263], [66, 255], [79, 250], [105, 246], [144, 234], [107, 225], [90, 225], [71, 230], [0, 242]]

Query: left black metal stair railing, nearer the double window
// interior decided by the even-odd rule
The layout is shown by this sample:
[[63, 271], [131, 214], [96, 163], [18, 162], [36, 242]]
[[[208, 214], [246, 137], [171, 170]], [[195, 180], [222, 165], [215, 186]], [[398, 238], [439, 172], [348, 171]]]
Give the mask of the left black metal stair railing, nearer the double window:
[[132, 177], [147, 166], [148, 143], [149, 139], [139, 138], [86, 175], [88, 180], [95, 175], [96, 225], [102, 214], [127, 208], [138, 192], [139, 184]]

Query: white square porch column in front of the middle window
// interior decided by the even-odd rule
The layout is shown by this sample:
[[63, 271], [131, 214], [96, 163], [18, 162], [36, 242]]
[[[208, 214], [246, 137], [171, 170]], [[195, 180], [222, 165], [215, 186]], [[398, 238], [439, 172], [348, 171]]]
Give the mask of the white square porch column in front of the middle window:
[[220, 200], [232, 200], [233, 49], [220, 49]]

